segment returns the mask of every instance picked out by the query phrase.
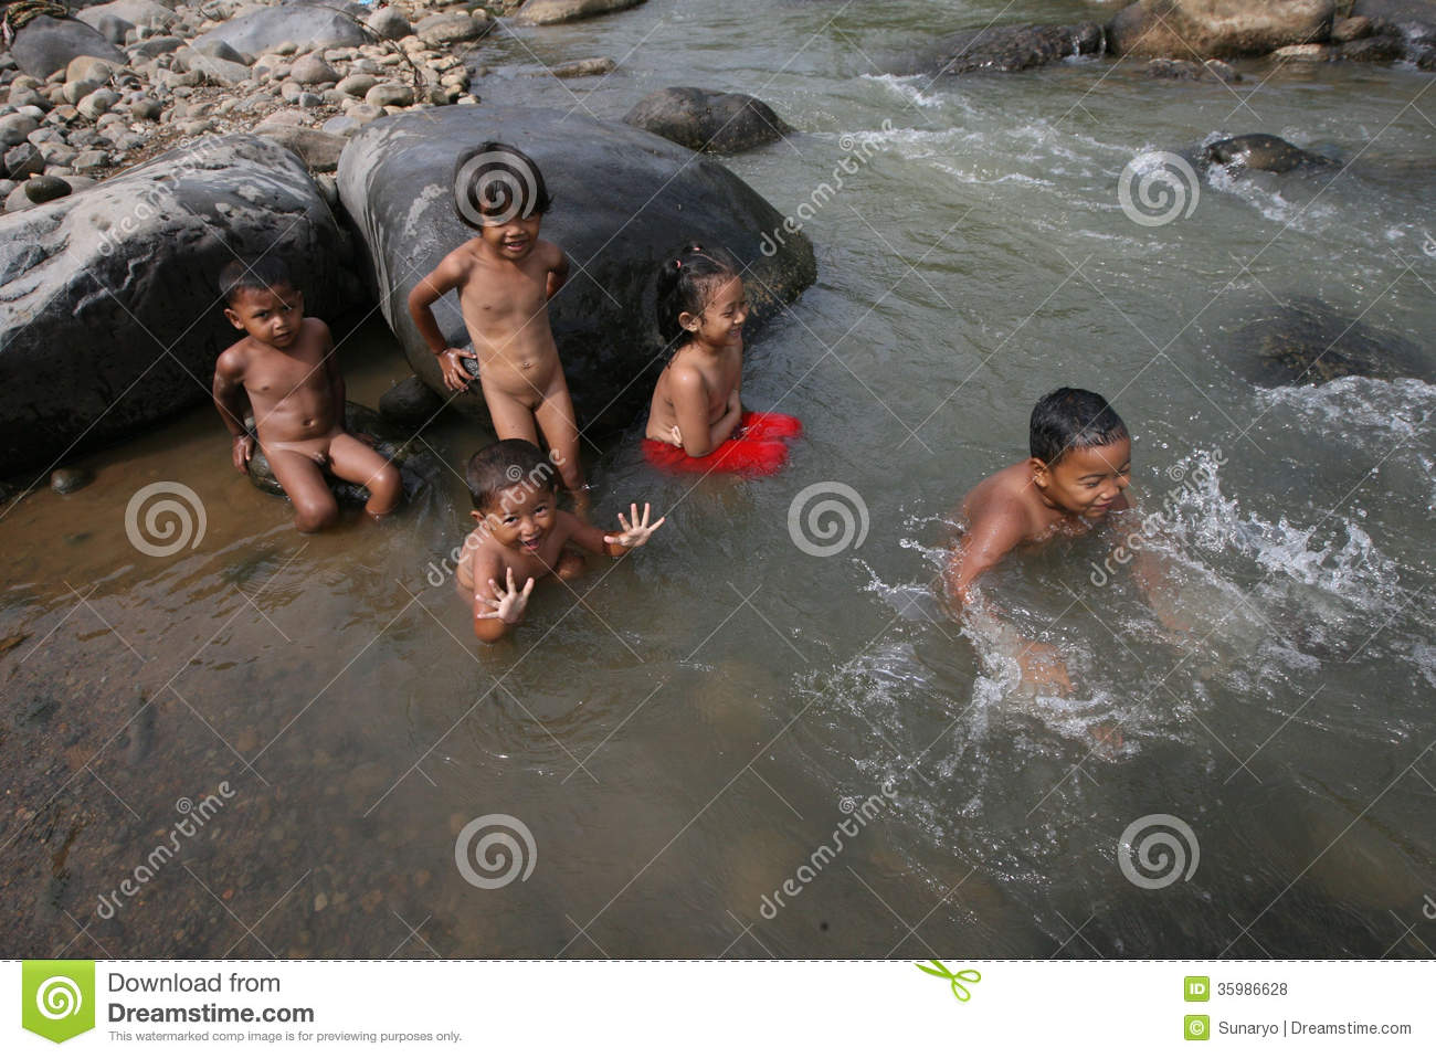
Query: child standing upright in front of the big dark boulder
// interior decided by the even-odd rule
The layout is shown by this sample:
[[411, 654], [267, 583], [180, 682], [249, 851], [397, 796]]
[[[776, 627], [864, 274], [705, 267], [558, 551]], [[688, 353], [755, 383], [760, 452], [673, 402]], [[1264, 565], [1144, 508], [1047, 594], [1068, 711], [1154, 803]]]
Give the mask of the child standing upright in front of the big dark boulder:
[[455, 164], [454, 200], [460, 218], [478, 235], [409, 291], [409, 314], [439, 360], [444, 385], [462, 390], [474, 376], [464, 369], [464, 352], [448, 345], [429, 309], [458, 290], [494, 432], [500, 439], [538, 444], [541, 431], [559, 455], [563, 484], [577, 492], [583, 488], [579, 426], [547, 309], [569, 277], [569, 258], [538, 238], [551, 205], [543, 174], [523, 151], [482, 144]]

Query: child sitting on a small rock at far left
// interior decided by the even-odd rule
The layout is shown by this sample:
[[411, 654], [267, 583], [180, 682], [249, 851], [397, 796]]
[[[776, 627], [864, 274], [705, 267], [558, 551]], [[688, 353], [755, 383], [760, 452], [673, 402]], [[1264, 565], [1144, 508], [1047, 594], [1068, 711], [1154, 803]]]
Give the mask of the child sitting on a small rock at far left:
[[333, 525], [339, 504], [325, 472], [369, 490], [365, 511], [392, 512], [402, 498], [393, 465], [345, 432], [345, 379], [322, 320], [304, 316], [304, 296], [277, 257], [233, 261], [220, 273], [224, 314], [244, 337], [220, 353], [214, 403], [230, 428], [234, 468], [248, 471], [254, 439], [246, 403], [274, 477], [294, 505], [294, 528]]

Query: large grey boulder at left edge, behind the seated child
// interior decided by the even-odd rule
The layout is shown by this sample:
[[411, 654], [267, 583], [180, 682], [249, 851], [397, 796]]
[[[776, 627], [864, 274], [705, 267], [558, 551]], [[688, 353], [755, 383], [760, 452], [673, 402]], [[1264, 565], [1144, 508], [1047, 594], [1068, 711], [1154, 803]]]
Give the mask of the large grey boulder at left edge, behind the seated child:
[[234, 254], [283, 256], [332, 319], [355, 289], [343, 243], [304, 165], [247, 135], [0, 217], [0, 474], [208, 401], [238, 336], [215, 304]]

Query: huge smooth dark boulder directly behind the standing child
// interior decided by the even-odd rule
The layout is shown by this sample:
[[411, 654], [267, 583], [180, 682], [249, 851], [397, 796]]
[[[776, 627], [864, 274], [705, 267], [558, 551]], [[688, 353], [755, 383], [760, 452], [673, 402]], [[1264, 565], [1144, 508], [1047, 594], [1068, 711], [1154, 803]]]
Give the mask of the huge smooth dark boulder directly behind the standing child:
[[[368, 245], [379, 307], [414, 372], [435, 392], [447, 390], [409, 319], [408, 296], [447, 253], [474, 237], [454, 210], [449, 178], [460, 152], [487, 139], [521, 145], [554, 198], [541, 234], [569, 254], [573, 270], [549, 319], [589, 436], [628, 428], [648, 406], [662, 366], [653, 278], [685, 240], [725, 247], [748, 266], [750, 339], [816, 278], [806, 237], [767, 238], [781, 231], [783, 217], [752, 188], [718, 162], [648, 132], [527, 108], [455, 106], [381, 118], [345, 148], [339, 195]], [[451, 345], [468, 343], [455, 296], [439, 300], [435, 316]], [[487, 419], [477, 388], [451, 406]]]

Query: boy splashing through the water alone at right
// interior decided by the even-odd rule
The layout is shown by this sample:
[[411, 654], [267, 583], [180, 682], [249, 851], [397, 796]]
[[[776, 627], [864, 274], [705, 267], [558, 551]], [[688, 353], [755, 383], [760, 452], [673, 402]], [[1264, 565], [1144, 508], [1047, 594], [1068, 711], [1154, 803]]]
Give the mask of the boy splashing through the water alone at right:
[[[962, 500], [966, 531], [946, 570], [958, 609], [972, 604], [972, 586], [1020, 547], [1078, 535], [1109, 514], [1130, 507], [1132, 436], [1103, 398], [1086, 389], [1055, 389], [1032, 408], [1031, 457], [998, 471]], [[1031, 683], [1071, 690], [1061, 657], [1041, 643], [1018, 652]]]

